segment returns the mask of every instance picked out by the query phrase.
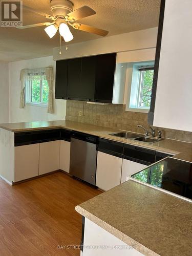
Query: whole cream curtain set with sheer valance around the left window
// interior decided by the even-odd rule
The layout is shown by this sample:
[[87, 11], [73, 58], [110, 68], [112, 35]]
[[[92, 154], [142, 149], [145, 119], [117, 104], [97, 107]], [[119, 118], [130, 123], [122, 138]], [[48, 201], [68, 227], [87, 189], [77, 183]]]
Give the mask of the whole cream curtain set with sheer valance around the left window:
[[25, 84], [30, 80], [47, 80], [49, 86], [48, 113], [53, 113], [53, 68], [23, 69], [20, 71], [20, 108], [25, 107]]

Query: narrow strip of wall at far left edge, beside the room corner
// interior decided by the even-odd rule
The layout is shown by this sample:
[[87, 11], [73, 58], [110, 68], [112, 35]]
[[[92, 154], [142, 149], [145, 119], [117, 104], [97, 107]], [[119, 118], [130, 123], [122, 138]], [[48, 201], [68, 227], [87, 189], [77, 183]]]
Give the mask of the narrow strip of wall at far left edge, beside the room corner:
[[9, 63], [0, 61], [0, 123], [9, 122]]

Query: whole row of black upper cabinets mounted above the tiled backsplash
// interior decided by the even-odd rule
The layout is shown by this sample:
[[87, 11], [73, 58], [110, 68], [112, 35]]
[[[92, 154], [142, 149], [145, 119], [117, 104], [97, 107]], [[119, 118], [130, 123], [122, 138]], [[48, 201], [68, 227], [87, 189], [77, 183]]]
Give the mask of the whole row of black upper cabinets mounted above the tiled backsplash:
[[[60, 61], [63, 60], [56, 61], [56, 63]], [[116, 53], [64, 61], [68, 62], [67, 97], [65, 99], [112, 103]], [[66, 73], [66, 70], [63, 72]], [[62, 80], [63, 75], [60, 72], [57, 73], [57, 70], [56, 74], [60, 74], [60, 77], [56, 75], [57, 87], [62, 84], [62, 82], [57, 82], [57, 79]], [[56, 92], [59, 90], [56, 89]], [[57, 94], [56, 98], [62, 97]]]

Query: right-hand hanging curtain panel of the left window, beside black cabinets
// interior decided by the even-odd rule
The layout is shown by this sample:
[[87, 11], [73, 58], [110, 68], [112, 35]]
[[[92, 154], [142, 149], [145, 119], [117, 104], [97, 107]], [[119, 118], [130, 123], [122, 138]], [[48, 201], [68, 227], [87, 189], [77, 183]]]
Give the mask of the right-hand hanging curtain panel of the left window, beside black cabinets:
[[45, 75], [49, 86], [48, 113], [53, 114], [53, 68], [46, 68]]

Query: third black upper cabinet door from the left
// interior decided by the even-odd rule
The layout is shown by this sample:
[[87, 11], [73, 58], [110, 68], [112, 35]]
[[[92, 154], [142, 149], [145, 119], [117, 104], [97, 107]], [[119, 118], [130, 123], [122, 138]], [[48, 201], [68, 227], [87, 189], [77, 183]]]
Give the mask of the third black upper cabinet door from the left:
[[83, 94], [82, 98], [87, 101], [94, 101], [96, 59], [96, 56], [82, 58], [81, 91]]

